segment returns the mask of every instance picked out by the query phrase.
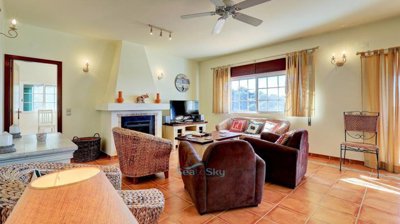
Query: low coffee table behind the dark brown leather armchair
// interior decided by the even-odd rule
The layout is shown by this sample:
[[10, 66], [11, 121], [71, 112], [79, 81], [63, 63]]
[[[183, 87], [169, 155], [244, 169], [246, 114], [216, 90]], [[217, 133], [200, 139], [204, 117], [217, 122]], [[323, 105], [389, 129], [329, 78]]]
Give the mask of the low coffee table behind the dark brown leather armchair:
[[224, 140], [234, 140], [239, 139], [242, 136], [240, 133], [235, 132], [220, 132], [213, 131], [209, 136], [204, 137], [196, 137], [191, 135], [186, 136], [178, 136], [175, 139], [178, 141], [188, 141], [192, 144], [193, 148], [197, 151], [197, 153], [202, 157], [207, 147], [216, 141], [224, 141]]

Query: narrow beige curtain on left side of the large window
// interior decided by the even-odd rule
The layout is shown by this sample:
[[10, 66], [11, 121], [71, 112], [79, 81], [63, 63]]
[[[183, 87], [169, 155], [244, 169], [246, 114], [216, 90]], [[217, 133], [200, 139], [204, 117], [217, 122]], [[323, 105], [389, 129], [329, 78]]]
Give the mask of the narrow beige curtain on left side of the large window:
[[214, 68], [213, 113], [229, 112], [229, 67]]

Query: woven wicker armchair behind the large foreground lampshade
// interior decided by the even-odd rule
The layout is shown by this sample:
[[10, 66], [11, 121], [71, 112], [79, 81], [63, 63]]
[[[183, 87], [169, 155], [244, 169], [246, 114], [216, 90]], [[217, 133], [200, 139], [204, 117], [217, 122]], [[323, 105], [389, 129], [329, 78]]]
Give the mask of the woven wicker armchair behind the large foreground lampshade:
[[[5, 223], [29, 184], [33, 171], [47, 174], [63, 169], [89, 166], [66, 163], [27, 163], [0, 167], [0, 224]], [[121, 171], [117, 166], [99, 167], [118, 190], [129, 210], [140, 224], [157, 223], [164, 208], [164, 196], [157, 189], [121, 190]]]

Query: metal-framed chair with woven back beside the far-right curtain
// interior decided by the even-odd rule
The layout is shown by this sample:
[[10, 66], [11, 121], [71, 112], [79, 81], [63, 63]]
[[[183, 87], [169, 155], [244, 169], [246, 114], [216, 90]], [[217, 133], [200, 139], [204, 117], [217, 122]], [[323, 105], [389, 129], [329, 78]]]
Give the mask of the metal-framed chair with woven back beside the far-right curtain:
[[376, 155], [379, 178], [378, 118], [379, 113], [376, 112], [344, 112], [345, 131], [344, 142], [340, 144], [340, 171], [346, 160], [346, 151], [370, 153]]

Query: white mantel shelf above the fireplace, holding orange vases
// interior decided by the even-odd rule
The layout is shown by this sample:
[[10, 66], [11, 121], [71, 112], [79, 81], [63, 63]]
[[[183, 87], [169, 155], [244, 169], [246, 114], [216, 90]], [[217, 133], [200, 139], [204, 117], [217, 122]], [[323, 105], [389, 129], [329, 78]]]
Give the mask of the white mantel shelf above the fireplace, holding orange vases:
[[96, 106], [99, 111], [161, 111], [169, 110], [167, 103], [105, 103]]

